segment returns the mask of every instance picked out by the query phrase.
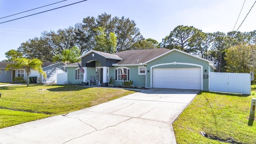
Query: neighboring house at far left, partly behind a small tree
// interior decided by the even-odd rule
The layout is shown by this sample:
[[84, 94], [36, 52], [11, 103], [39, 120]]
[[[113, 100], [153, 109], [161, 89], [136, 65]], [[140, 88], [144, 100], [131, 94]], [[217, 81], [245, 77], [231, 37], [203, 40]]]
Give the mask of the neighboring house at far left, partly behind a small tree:
[[[10, 68], [5, 70], [7, 64], [12, 64], [12, 62], [0, 62], [0, 82], [12, 82], [15, 77], [23, 77], [24, 80], [27, 79], [27, 74], [24, 68]], [[47, 78], [42, 77], [37, 70], [30, 70], [29, 77], [37, 77], [37, 83], [40, 81], [42, 83], [56, 83], [57, 74], [64, 73], [64, 63], [63, 62], [43, 62], [42, 70], [46, 72]], [[40, 81], [39, 81], [40, 80]]]

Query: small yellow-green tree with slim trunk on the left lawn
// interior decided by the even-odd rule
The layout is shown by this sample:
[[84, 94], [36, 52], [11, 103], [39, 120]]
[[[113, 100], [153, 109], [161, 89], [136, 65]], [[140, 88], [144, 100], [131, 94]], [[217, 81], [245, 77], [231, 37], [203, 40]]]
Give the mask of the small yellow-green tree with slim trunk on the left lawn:
[[28, 59], [28, 58], [17, 58], [14, 60], [14, 64], [7, 64], [6, 70], [9, 70], [10, 68], [23, 68], [25, 67], [25, 71], [27, 73], [27, 86], [29, 86], [29, 73], [31, 69], [38, 70], [44, 78], [46, 78], [46, 73], [42, 70], [42, 62], [37, 59]]

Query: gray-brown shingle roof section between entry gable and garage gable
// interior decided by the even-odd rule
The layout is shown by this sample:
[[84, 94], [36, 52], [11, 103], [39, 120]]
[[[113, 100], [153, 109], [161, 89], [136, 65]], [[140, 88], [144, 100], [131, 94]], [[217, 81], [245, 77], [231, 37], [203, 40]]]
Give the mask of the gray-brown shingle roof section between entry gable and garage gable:
[[118, 64], [140, 64], [147, 62], [161, 54], [170, 51], [166, 48], [154, 48], [154, 49], [146, 49], [146, 50], [125, 50], [122, 52], [116, 53], [116, 55], [120, 56], [123, 60], [118, 62]]

